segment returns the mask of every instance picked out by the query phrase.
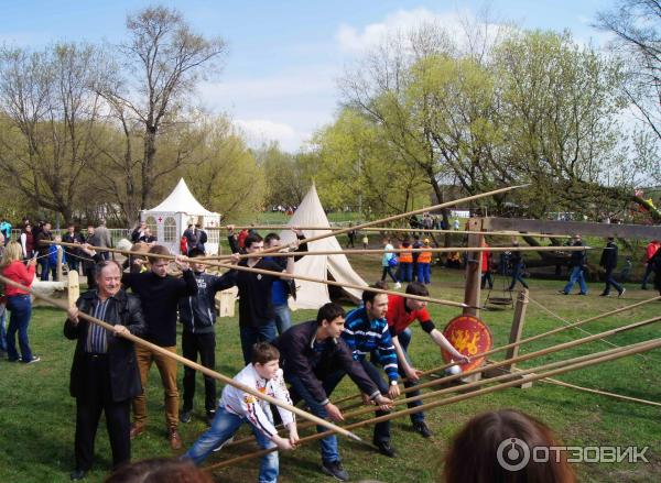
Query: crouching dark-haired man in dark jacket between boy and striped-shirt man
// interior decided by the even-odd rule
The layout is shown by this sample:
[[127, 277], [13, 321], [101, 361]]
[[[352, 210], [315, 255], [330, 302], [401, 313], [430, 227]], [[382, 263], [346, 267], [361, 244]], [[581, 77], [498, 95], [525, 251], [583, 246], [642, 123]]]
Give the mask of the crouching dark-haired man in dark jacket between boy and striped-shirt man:
[[[392, 402], [382, 396], [351, 349], [340, 339], [344, 329], [344, 309], [334, 303], [319, 308], [316, 320], [299, 323], [285, 331], [274, 344], [280, 349], [284, 378], [291, 384], [290, 394], [294, 402], [304, 399], [312, 414], [334, 421], [344, 420], [339, 408], [328, 399], [332, 389], [327, 383], [337, 370], [348, 374], [360, 391], [382, 410]], [[325, 428], [317, 426], [317, 432]], [[330, 435], [322, 439], [322, 471], [340, 481], [349, 475], [342, 466], [337, 438]]]

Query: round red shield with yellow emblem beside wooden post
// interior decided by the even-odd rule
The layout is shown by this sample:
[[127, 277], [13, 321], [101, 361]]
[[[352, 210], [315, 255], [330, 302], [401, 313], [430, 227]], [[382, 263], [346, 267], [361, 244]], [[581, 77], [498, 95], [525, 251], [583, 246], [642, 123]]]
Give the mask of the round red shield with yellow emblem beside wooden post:
[[[479, 367], [485, 358], [474, 356], [490, 351], [494, 347], [491, 330], [485, 322], [474, 316], [455, 317], [445, 326], [443, 336], [445, 336], [457, 351], [470, 358], [468, 364], [460, 364], [462, 372]], [[452, 361], [449, 352], [441, 350], [441, 353], [446, 363]]]

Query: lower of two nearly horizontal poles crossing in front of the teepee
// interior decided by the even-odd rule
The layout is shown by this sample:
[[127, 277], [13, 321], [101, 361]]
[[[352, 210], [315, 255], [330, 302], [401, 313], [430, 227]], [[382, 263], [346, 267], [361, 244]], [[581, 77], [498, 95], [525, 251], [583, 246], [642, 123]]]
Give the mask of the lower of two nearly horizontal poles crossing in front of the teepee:
[[[380, 255], [383, 253], [448, 253], [448, 252], [582, 252], [584, 250], [595, 250], [594, 246], [444, 246], [444, 248], [429, 248], [429, 249], [367, 249], [367, 250], [321, 250], [312, 252], [271, 252], [266, 256], [292, 256], [292, 253], [299, 256], [310, 255]], [[202, 260], [227, 260], [231, 255], [212, 255], [202, 256]], [[264, 252], [256, 253], [242, 253], [239, 259], [259, 259], [264, 256]], [[198, 260], [201, 260], [198, 259]], [[297, 277], [296, 277], [297, 278]]]

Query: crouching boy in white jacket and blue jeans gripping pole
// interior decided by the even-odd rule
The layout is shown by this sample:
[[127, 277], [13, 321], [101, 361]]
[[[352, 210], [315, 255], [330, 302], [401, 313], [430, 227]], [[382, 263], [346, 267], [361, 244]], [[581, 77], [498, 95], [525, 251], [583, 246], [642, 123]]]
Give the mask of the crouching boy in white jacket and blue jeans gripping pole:
[[[268, 394], [283, 403], [292, 404], [279, 365], [279, 359], [280, 352], [278, 349], [270, 343], [258, 342], [252, 347], [252, 362], [234, 378], [247, 386], [254, 387], [260, 393]], [[212, 427], [199, 437], [182, 459], [191, 459], [195, 464], [201, 464], [215, 448], [231, 439], [243, 422], [252, 426], [252, 432], [262, 449], [277, 446], [281, 450], [293, 450], [299, 442], [294, 415], [280, 407], [278, 407], [278, 411], [283, 425], [289, 430], [289, 438], [278, 436], [269, 403], [227, 385], [223, 389]], [[277, 451], [263, 455], [259, 469], [259, 482], [277, 482], [278, 466]]]

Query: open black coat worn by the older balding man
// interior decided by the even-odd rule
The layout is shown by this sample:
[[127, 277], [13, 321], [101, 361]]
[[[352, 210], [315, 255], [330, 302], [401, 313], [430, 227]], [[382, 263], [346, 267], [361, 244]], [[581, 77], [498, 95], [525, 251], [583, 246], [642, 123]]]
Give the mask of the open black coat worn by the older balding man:
[[[82, 312], [90, 315], [94, 314], [97, 301], [97, 290], [89, 290], [78, 298], [76, 306]], [[69, 393], [73, 397], [82, 396], [85, 389], [80, 383], [83, 364], [85, 364], [85, 343], [90, 323], [83, 318], [78, 320], [78, 323], [74, 325], [67, 319], [64, 325], [64, 336], [67, 339], [77, 339], [69, 383]], [[106, 309], [106, 321], [112, 326], [118, 323], [126, 326], [133, 336], [140, 337], [147, 330], [140, 300], [123, 290], [119, 290], [110, 298]], [[142, 386], [133, 342], [111, 333], [107, 334], [107, 342], [112, 400], [121, 402], [138, 396], [142, 392]]]

